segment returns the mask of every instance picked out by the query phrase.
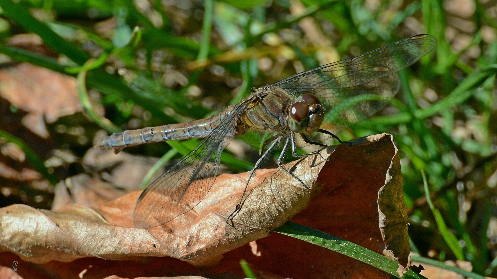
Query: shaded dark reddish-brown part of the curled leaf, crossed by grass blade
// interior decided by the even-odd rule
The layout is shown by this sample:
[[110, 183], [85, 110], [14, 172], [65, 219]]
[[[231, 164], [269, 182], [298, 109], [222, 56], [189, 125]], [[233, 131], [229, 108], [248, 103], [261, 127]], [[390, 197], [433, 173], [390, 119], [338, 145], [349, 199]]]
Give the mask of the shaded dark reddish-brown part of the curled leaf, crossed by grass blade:
[[[352, 147], [339, 145], [331, 153], [319, 174], [317, 186], [322, 189], [292, 221], [395, 257], [402, 273], [410, 264], [410, 246], [397, 147], [387, 134], [352, 142]], [[225, 257], [245, 258], [259, 269], [278, 270], [283, 277], [391, 278], [366, 263], [278, 233], [256, 244], [260, 256], [248, 247]]]

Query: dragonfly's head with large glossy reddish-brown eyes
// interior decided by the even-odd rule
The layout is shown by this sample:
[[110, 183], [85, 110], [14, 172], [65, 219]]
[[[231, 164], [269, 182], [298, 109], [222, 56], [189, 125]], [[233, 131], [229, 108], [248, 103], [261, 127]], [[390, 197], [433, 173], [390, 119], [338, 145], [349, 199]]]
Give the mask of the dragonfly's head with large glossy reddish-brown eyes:
[[320, 100], [313, 94], [302, 95], [302, 101], [295, 102], [288, 111], [288, 127], [295, 133], [312, 134], [319, 130], [325, 117]]

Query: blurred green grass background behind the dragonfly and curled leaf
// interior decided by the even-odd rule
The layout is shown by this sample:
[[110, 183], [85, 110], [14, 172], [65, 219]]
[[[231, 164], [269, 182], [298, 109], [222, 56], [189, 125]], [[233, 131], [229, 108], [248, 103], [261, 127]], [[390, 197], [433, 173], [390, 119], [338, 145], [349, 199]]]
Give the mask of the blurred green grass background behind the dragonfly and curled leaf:
[[[47, 139], [24, 132], [18, 105], [1, 100], [0, 136], [17, 143], [52, 184], [84, 171], [76, 161], [51, 166], [53, 150], [82, 157], [101, 128], [112, 133], [203, 118], [253, 87], [415, 34], [435, 36], [435, 50], [400, 72], [402, 88], [391, 104], [339, 137], [392, 133], [412, 250], [469, 261], [474, 272], [497, 276], [497, 1], [0, 0], [0, 7], [3, 69], [29, 62], [78, 76], [88, 87], [80, 96], [86, 115], [50, 123]], [[44, 45], [13, 39], [24, 33]], [[126, 151], [161, 157], [175, 150], [168, 153], [174, 160], [195, 142]], [[225, 153], [222, 162], [235, 172], [251, 169], [258, 156], [242, 143]], [[5, 175], [0, 182], [0, 206], [50, 208], [49, 190]]]

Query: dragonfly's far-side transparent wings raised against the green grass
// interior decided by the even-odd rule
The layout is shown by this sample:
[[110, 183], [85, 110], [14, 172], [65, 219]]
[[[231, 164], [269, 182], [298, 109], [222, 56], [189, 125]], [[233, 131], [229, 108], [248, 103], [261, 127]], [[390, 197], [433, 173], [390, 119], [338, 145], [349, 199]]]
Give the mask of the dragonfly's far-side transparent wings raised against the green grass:
[[416, 35], [363, 55], [327, 64], [282, 79], [272, 86], [290, 94], [313, 93], [327, 110], [325, 122], [339, 131], [381, 110], [399, 89], [396, 72], [435, 47], [431, 35]]

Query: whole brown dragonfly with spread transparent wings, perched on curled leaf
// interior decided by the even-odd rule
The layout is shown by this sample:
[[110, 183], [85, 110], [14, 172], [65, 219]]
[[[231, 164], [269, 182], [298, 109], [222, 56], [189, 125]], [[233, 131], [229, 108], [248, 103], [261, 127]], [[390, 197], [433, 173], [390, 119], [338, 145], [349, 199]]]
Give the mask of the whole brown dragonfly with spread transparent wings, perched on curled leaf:
[[[223, 149], [234, 137], [248, 132], [272, 136], [263, 142], [262, 155], [250, 171], [246, 190], [255, 170], [281, 143], [278, 167], [310, 189], [282, 165], [288, 147], [291, 145], [292, 156], [299, 157], [303, 155], [297, 154], [296, 141], [326, 146], [320, 141], [320, 136], [326, 136], [347, 143], [335, 134], [388, 104], [400, 88], [397, 72], [431, 52], [435, 44], [431, 35], [415, 35], [261, 87], [239, 104], [209, 118], [127, 130], [106, 137], [101, 148], [112, 148], [116, 153], [143, 143], [203, 138], [142, 192], [133, 214], [135, 227], [161, 226], [197, 206], [214, 184]], [[246, 192], [227, 222], [233, 222], [244, 196]]]

